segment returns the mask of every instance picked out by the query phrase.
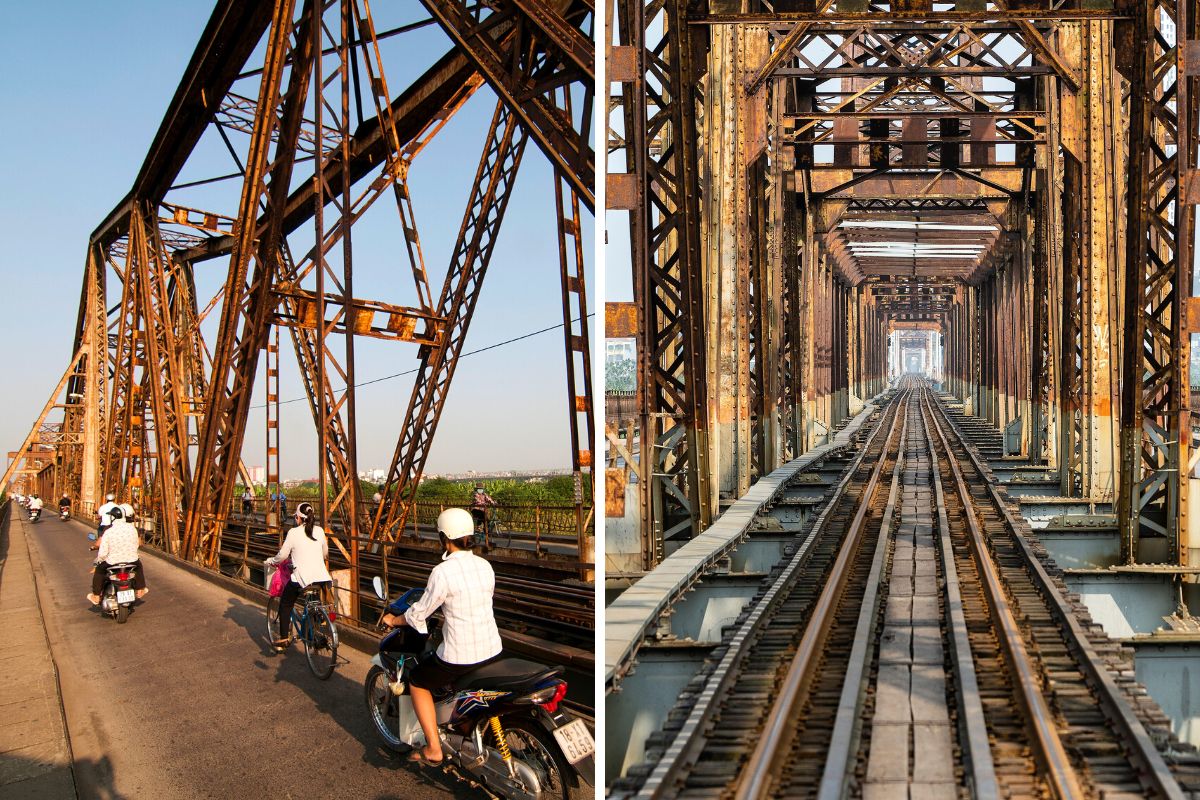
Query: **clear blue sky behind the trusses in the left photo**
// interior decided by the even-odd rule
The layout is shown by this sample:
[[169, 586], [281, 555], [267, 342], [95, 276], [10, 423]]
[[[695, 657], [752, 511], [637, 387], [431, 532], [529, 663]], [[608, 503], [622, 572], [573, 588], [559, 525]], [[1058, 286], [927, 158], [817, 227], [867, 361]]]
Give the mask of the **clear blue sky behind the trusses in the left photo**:
[[[406, 11], [416, 4], [402, 4]], [[0, 7], [4, 125], [0, 193], [6, 247], [0, 252], [0, 336], [8, 344], [8, 391], [0, 396], [0, 439], [16, 449], [71, 356], [88, 235], [125, 196], [211, 11], [205, 2], [66, 2]], [[401, 12], [404, 13], [404, 12]], [[380, 24], [380, 29], [386, 25]], [[398, 92], [450, 49], [436, 28], [385, 42], [389, 86]], [[245, 89], [242, 90], [246, 91]], [[434, 297], [440, 289], [484, 133], [494, 108], [478, 92], [414, 163], [410, 188]], [[182, 178], [230, 172], [217, 149], [198, 149]], [[236, 210], [240, 184], [202, 194], [205, 207]], [[530, 144], [468, 335], [473, 350], [562, 321], [553, 181]], [[355, 295], [397, 305], [414, 297], [390, 197], [355, 230]], [[592, 218], [584, 212], [589, 290]], [[223, 278], [221, 263], [197, 269], [200, 302]], [[590, 291], [589, 291], [590, 294]], [[115, 302], [115, 296], [109, 297]], [[589, 307], [595, 309], [594, 296]], [[210, 345], [212, 343], [209, 333]], [[284, 342], [286, 342], [284, 337]], [[415, 347], [360, 339], [360, 383], [416, 366]], [[290, 347], [283, 347], [283, 399], [304, 396]], [[563, 337], [552, 331], [462, 360], [428, 469], [566, 467]], [[359, 392], [359, 465], [386, 467], [410, 378]], [[256, 395], [256, 404], [262, 392]], [[245, 457], [262, 463], [263, 411], [248, 422]], [[316, 474], [316, 437], [306, 403], [282, 413], [283, 475]]]

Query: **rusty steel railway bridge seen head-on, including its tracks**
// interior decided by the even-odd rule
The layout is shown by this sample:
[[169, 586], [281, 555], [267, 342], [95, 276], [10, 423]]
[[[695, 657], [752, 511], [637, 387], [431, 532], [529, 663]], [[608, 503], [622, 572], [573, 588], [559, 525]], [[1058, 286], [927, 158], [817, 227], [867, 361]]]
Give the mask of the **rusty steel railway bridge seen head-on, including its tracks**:
[[611, 4], [612, 796], [1195, 790], [1198, 16]]

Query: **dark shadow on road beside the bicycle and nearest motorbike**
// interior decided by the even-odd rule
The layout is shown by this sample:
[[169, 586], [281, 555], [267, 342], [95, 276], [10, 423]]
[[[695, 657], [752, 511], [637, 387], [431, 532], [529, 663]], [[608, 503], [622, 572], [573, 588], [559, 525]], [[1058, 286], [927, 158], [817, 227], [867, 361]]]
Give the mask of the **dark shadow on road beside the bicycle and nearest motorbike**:
[[[455, 798], [462, 798], [462, 800], [476, 800], [484, 796], [482, 793], [440, 770], [409, 766], [408, 753], [392, 752], [379, 741], [371, 724], [371, 718], [367, 716], [362, 684], [347, 678], [336, 669], [329, 680], [317, 680], [308, 669], [302, 644], [293, 644], [282, 655], [277, 655], [275, 649], [270, 646], [266, 638], [265, 609], [239, 597], [229, 597], [228, 603], [229, 607], [224, 613], [226, 619], [244, 628], [263, 656], [263, 661], [256, 661], [254, 666], [270, 669], [274, 661], [276, 682], [287, 682], [300, 688], [312, 699], [319, 712], [326, 715], [341, 726], [352, 739], [361, 744], [364, 764], [379, 769], [404, 770], [410, 777], [418, 778], [422, 786], [450, 792]], [[344, 663], [341, 655], [338, 661]], [[377, 800], [391, 800], [392, 796], [398, 800], [401, 795], [380, 795]]]

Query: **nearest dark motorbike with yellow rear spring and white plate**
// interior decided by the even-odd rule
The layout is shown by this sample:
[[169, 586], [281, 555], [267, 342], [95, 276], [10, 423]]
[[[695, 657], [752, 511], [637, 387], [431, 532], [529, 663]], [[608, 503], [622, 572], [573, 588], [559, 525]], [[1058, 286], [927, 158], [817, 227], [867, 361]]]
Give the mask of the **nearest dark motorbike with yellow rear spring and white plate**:
[[[383, 581], [373, 581], [388, 602]], [[424, 589], [409, 589], [388, 606], [403, 614]], [[424, 745], [408, 698], [408, 678], [419, 658], [436, 649], [439, 632], [397, 627], [379, 642], [365, 681], [367, 712], [384, 744], [395, 751]], [[433, 696], [445, 771], [493, 798], [568, 800], [571, 789], [595, 784], [595, 740], [583, 720], [562, 708], [566, 681], [560, 667], [522, 658], [480, 664]], [[590, 794], [588, 794], [590, 796]]]

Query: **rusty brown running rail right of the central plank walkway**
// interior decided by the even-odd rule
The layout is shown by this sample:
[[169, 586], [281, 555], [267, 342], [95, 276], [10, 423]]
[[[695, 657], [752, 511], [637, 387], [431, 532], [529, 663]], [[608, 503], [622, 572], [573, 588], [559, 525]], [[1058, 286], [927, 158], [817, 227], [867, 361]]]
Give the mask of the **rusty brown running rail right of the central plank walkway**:
[[[923, 403], [926, 403], [925, 408], [928, 410], [928, 398], [923, 397]], [[1046, 703], [1045, 696], [1042, 693], [1042, 676], [1038, 667], [1025, 646], [1025, 637], [1021, 634], [1016, 615], [1008, 602], [1004, 585], [1000, 579], [991, 552], [988, 549], [983, 530], [979, 528], [974, 501], [971, 499], [971, 492], [967, 489], [962, 470], [958, 464], [958, 459], [950, 452], [950, 443], [946, 438], [942, 426], [938, 425], [935, 416], [930, 416], [929, 420], [932, 422], [932, 429], [937, 434], [937, 438], [942, 441], [947, 463], [954, 474], [955, 491], [962, 499], [962, 507], [966, 511], [964, 516], [971, 533], [971, 548], [974, 551], [979, 572], [983, 577], [983, 588], [988, 596], [992, 621], [1001, 634], [1000, 642], [1008, 656], [1009, 667], [1016, 674], [1018, 699], [1025, 706], [1031, 733], [1033, 734], [1031, 744], [1034, 744], [1037, 747], [1038, 759], [1046, 770], [1046, 780], [1056, 798], [1068, 800], [1070, 798], [1085, 796], [1084, 782], [1080, 781], [1075, 766], [1067, 756], [1067, 748], [1063, 746], [1062, 736], [1058, 734], [1057, 721], [1050, 710], [1050, 705]], [[936, 453], [934, 453], [934, 458], [936, 458]]]

